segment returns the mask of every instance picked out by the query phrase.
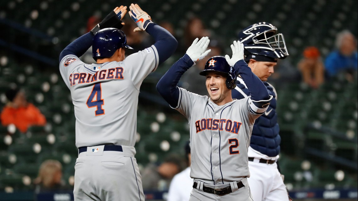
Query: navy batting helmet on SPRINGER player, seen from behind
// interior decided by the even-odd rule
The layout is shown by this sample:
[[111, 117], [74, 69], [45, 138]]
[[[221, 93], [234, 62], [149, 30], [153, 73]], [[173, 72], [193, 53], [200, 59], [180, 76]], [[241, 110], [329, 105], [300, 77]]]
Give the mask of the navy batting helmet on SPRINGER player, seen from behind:
[[127, 39], [123, 31], [116, 28], [101, 29], [93, 36], [92, 41], [92, 57], [109, 58], [114, 52], [121, 47], [133, 49], [126, 45]]

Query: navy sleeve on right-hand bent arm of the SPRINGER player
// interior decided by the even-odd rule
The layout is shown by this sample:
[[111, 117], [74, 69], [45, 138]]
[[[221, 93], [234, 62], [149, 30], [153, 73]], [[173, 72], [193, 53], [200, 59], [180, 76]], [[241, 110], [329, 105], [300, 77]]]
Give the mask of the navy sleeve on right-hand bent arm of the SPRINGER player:
[[149, 24], [146, 31], [155, 40], [154, 46], [158, 51], [159, 64], [161, 64], [175, 52], [178, 41], [169, 31], [154, 23]]

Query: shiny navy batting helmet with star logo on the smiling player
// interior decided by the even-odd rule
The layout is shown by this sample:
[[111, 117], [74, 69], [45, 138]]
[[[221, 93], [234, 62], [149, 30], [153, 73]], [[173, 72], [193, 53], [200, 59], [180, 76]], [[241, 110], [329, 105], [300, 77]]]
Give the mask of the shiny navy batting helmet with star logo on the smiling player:
[[201, 71], [199, 74], [205, 76], [208, 71], [226, 73], [226, 87], [228, 89], [234, 89], [236, 87], [236, 71], [227, 63], [225, 57], [211, 57], [205, 63], [204, 70]]

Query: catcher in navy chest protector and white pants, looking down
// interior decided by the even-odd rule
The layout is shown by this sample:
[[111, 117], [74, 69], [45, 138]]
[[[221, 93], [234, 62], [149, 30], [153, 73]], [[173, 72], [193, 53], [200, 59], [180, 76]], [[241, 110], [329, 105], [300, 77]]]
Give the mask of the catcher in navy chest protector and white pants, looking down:
[[[250, 184], [255, 201], [288, 201], [286, 187], [277, 169], [281, 138], [277, 124], [275, 88], [267, 78], [274, 73], [277, 59], [287, 57], [284, 36], [277, 33], [277, 28], [269, 23], [253, 24], [238, 34], [245, 48], [245, 61], [274, 98], [267, 111], [258, 117], [253, 125], [250, 147], [248, 148], [248, 166]], [[237, 78], [237, 86], [232, 98], [242, 99], [252, 95], [242, 77]]]

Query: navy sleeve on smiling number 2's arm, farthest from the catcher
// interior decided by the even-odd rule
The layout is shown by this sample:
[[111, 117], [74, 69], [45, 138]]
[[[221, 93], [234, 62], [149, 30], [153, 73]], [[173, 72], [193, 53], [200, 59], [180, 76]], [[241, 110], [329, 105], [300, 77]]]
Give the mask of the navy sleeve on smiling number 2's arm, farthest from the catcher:
[[179, 100], [179, 89], [176, 87], [182, 75], [194, 62], [185, 54], [175, 62], [170, 69], [163, 75], [156, 85], [159, 94], [166, 100], [171, 107], [176, 107]]

